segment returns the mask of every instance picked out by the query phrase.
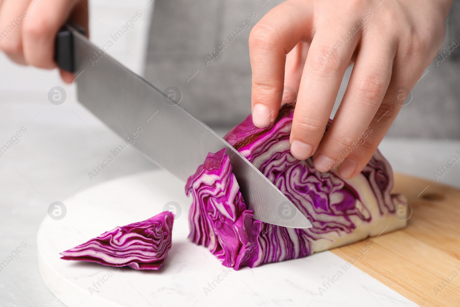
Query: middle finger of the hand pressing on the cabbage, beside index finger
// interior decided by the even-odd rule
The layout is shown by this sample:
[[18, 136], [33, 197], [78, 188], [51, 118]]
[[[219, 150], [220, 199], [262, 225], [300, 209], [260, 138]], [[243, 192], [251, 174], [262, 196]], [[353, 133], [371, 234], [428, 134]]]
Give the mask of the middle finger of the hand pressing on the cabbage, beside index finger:
[[[319, 27], [318, 27], [319, 28]], [[340, 33], [349, 26], [323, 26], [311, 42], [300, 82], [290, 136], [291, 153], [303, 160], [316, 151], [334, 107], [345, 70], [360, 39], [353, 33], [345, 41]]]

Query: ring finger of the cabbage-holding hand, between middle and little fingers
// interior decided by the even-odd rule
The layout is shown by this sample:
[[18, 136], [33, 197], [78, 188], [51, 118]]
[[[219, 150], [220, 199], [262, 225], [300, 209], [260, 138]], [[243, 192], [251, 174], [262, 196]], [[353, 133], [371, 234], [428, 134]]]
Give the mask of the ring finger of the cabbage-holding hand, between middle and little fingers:
[[315, 153], [317, 170], [328, 171], [345, 160], [339, 174], [351, 178], [356, 173], [358, 161], [345, 158], [365, 142], [363, 136], [390, 83], [396, 49], [396, 42], [381, 46], [365, 43], [360, 47], [339, 110]]

